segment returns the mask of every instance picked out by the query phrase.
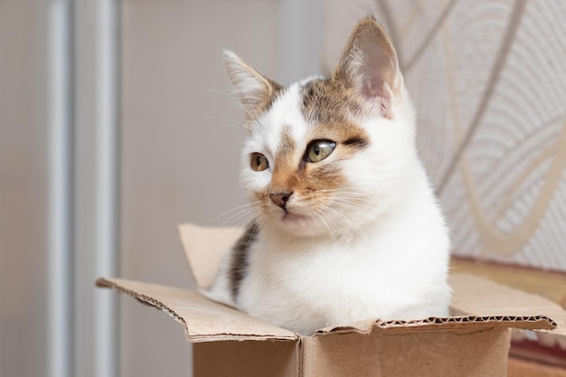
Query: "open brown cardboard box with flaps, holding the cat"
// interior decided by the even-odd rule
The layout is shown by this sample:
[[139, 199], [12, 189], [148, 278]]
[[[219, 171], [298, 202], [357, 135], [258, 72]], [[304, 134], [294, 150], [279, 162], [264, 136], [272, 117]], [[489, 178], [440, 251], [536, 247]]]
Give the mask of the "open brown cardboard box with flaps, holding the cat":
[[[223, 252], [242, 230], [186, 224], [179, 231], [196, 284], [210, 286]], [[182, 324], [187, 339], [194, 343], [195, 377], [503, 377], [509, 329], [527, 330], [528, 336], [566, 348], [566, 313], [560, 306], [472, 275], [452, 275], [449, 283], [454, 290], [454, 316], [368, 319], [301, 336], [189, 289], [119, 278], [97, 281], [99, 287], [113, 287], [156, 306]]]

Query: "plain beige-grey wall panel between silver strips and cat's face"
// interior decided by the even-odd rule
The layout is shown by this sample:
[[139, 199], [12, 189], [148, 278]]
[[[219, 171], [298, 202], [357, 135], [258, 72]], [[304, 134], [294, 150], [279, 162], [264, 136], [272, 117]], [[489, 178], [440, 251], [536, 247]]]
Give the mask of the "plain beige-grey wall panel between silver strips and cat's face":
[[[238, 184], [241, 111], [222, 50], [278, 79], [278, 6], [122, 3], [123, 278], [192, 286], [176, 224], [221, 225], [230, 216], [217, 216], [245, 203]], [[121, 375], [189, 375], [191, 347], [181, 326], [133, 300], [120, 302]]]

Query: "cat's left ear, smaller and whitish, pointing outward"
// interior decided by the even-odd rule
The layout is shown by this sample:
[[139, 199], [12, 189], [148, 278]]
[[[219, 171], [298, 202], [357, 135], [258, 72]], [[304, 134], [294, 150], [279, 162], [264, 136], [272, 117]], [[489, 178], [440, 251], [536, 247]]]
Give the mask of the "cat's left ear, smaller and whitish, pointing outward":
[[246, 116], [250, 119], [257, 118], [281, 86], [262, 76], [231, 51], [224, 51], [224, 63], [238, 99], [246, 110]]

